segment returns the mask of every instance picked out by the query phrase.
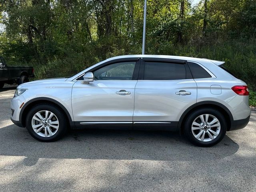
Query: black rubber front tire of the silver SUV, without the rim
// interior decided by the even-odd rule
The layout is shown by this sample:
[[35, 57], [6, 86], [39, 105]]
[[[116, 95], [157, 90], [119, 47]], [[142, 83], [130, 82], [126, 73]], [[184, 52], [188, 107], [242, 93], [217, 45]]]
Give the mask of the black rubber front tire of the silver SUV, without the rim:
[[[59, 127], [58, 127], [57, 132], [53, 136], [50, 136], [50, 137], [40, 136], [32, 128], [32, 118], [33, 118], [34, 114], [36, 114], [37, 112], [42, 111], [42, 110], [48, 110], [48, 111], [54, 113], [55, 116], [58, 118]], [[38, 104], [38, 105], [34, 106], [28, 112], [28, 115], [26, 117], [26, 128], [27, 128], [28, 132], [36, 140], [39, 140], [42, 142], [53, 142], [53, 141], [56, 141], [56, 140], [62, 138], [62, 136], [64, 136], [64, 134], [66, 133], [67, 127], [68, 127], [68, 122], [66, 120], [66, 115], [64, 114], [64, 112], [62, 112], [62, 110], [60, 108], [58, 108], [57, 106], [52, 105], [52, 104]], [[42, 131], [44, 131], [44, 130], [42, 130]]]

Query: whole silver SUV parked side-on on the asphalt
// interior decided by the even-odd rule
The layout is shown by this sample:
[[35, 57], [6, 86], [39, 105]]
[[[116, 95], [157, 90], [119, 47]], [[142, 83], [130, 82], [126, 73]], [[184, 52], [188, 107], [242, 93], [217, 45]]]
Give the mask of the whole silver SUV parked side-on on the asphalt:
[[212, 146], [250, 118], [245, 82], [224, 62], [160, 55], [109, 58], [69, 78], [28, 82], [11, 101], [12, 122], [50, 142], [68, 127], [170, 130]]

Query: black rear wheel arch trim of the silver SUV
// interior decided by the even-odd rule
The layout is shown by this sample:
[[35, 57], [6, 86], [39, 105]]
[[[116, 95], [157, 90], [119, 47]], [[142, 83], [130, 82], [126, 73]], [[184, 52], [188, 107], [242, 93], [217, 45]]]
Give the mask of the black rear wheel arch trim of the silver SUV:
[[220, 112], [222, 112], [222, 114], [224, 115], [225, 119], [227, 120], [227, 130], [230, 130], [230, 126], [231, 126], [231, 122], [233, 122], [233, 116], [230, 112], [230, 110], [224, 106], [221, 103], [215, 102], [215, 101], [202, 101], [202, 102], [198, 102], [196, 104], [193, 104], [192, 106], [190, 106], [188, 109], [186, 109], [182, 116], [180, 117], [180, 120], [178, 122], [178, 130], [180, 130], [180, 134], [183, 134], [183, 129], [184, 129], [184, 122], [186, 120], [186, 118], [188, 117], [188, 115], [200, 108], [214, 108]]

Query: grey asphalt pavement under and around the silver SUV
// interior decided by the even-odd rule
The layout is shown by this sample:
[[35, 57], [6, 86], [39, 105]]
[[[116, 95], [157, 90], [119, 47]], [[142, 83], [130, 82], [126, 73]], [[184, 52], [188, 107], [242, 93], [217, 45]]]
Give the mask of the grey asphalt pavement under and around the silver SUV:
[[11, 122], [14, 91], [0, 90], [0, 192], [256, 191], [256, 112], [210, 148], [133, 130], [71, 130], [43, 143]]

